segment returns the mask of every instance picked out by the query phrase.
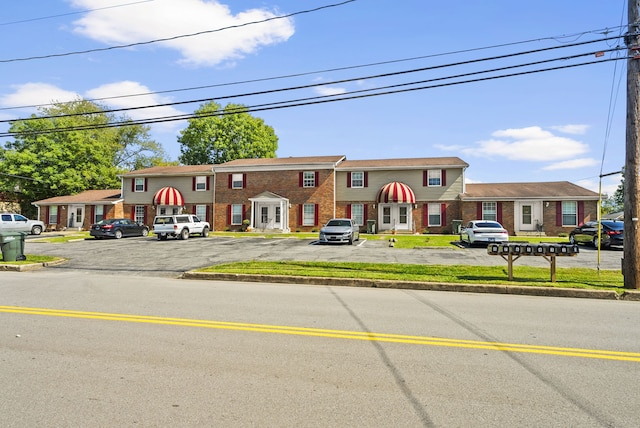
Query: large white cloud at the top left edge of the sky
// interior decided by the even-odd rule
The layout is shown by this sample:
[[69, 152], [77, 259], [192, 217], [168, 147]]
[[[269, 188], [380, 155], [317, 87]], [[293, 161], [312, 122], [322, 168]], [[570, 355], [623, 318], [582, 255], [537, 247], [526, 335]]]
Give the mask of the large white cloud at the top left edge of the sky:
[[[94, 9], [74, 22], [74, 31], [109, 45], [207, 32], [277, 16], [266, 9], [233, 14], [227, 5], [216, 0], [154, 1], [110, 9], [105, 9], [104, 0], [73, 0], [72, 4], [85, 10]], [[181, 62], [185, 64], [212, 66], [233, 62], [263, 46], [284, 42], [293, 33], [293, 20], [283, 18], [137, 48], [164, 46], [180, 52]]]

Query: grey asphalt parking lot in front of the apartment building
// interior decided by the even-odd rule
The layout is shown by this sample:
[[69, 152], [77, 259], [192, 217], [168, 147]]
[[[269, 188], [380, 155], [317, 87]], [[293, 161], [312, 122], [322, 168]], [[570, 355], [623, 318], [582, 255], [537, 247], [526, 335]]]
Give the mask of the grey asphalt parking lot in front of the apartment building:
[[[452, 236], [452, 240], [455, 237]], [[55, 269], [77, 269], [102, 273], [179, 276], [185, 271], [220, 263], [251, 260], [335, 261], [410, 263], [442, 265], [507, 266], [501, 256], [487, 254], [482, 247], [422, 247], [400, 249], [384, 240], [367, 240], [363, 236], [354, 245], [318, 245], [310, 239], [260, 237], [192, 237], [188, 240], [158, 241], [155, 237], [48, 243], [27, 239], [26, 254], [60, 256], [69, 261]], [[601, 251], [601, 269], [620, 269], [622, 249]], [[514, 266], [549, 267], [540, 256], [523, 256]], [[558, 257], [557, 267], [597, 267], [597, 251], [580, 246], [575, 257]]]

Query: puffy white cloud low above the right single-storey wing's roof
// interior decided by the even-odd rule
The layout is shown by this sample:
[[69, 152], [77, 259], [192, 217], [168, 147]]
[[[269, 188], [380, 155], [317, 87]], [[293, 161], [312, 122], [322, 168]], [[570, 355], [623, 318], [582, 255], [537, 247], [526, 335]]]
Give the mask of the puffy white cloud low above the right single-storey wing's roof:
[[558, 137], [538, 126], [499, 130], [492, 136], [496, 138], [479, 141], [477, 147], [462, 152], [485, 158], [548, 162], [571, 159], [589, 150], [585, 143]]

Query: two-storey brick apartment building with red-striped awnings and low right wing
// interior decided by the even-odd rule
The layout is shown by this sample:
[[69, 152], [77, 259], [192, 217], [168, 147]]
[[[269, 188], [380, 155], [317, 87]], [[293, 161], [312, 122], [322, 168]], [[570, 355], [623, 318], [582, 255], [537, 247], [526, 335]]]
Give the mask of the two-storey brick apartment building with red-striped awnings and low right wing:
[[315, 231], [348, 217], [364, 231], [456, 233], [483, 218], [510, 231], [557, 235], [597, 215], [598, 194], [569, 182], [465, 185], [457, 157], [347, 160], [345, 156], [238, 159], [153, 167], [121, 176], [126, 217], [190, 212], [214, 231]]

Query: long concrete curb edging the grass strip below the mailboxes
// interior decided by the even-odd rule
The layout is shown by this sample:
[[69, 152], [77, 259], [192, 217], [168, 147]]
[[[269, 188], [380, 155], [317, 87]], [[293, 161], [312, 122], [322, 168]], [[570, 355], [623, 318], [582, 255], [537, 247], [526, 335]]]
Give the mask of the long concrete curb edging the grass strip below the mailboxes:
[[582, 299], [640, 301], [640, 291], [618, 294], [610, 290], [579, 288], [526, 287], [517, 285], [480, 285], [441, 282], [390, 281], [358, 278], [322, 278], [311, 276], [248, 275], [241, 273], [185, 272], [183, 279], [214, 281], [269, 282], [280, 284], [334, 285], [343, 287], [396, 288], [403, 290], [457, 291], [462, 293], [513, 294], [519, 296], [573, 297]]

